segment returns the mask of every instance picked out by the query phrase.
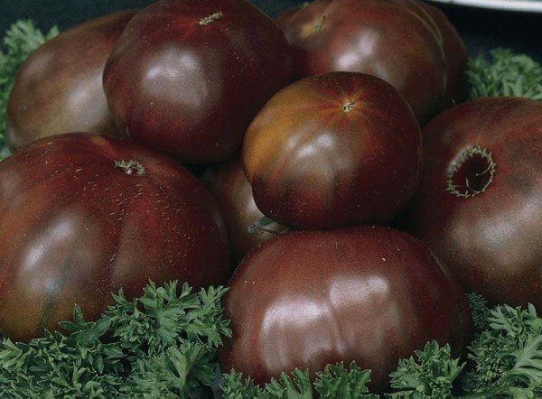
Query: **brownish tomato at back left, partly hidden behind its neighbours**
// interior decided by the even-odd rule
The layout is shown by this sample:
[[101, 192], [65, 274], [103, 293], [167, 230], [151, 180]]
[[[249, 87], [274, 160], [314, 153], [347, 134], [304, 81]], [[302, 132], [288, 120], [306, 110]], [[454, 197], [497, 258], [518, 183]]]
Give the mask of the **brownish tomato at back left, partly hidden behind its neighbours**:
[[121, 136], [107, 107], [102, 75], [135, 12], [111, 14], [46, 42], [23, 63], [7, 106], [12, 150], [45, 136], [94, 132]]

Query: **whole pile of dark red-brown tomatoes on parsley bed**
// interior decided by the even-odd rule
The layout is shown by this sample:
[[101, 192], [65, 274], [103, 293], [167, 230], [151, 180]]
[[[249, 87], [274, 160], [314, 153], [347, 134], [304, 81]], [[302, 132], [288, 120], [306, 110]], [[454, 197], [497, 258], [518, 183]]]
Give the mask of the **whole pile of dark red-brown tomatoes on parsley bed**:
[[[542, 106], [425, 125], [465, 100], [466, 59], [417, 0], [315, 0], [276, 23], [159, 0], [61, 33], [7, 110], [0, 332], [32, 339], [75, 303], [96, 318], [149, 280], [228, 283], [231, 252], [225, 371], [356, 361], [385, 390], [428, 340], [462, 354], [464, 290], [542, 306]], [[376, 226], [401, 213], [428, 246]]]

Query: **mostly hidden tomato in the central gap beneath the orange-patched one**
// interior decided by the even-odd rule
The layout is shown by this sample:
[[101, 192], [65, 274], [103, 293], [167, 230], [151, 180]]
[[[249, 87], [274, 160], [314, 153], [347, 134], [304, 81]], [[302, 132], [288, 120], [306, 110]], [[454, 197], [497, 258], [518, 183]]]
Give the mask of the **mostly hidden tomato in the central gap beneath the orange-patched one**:
[[[210, 171], [203, 179], [219, 205], [235, 261], [240, 261], [251, 249], [285, 232], [285, 227], [276, 223], [259, 228], [256, 226], [264, 215], [257, 209], [240, 161]], [[249, 232], [249, 227], [253, 231]]]

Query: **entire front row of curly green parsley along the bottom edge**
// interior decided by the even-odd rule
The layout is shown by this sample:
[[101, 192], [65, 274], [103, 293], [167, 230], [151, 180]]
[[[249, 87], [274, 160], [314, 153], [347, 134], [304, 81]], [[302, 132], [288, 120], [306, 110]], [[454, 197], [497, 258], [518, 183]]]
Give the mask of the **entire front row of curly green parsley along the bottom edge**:
[[[4, 339], [0, 397], [182, 398], [210, 386], [218, 348], [231, 335], [220, 308], [226, 290], [151, 283], [144, 292], [134, 301], [114, 295], [115, 305], [97, 321], [85, 321], [76, 306], [73, 322], [61, 323], [68, 336], [47, 332], [29, 344]], [[542, 318], [535, 308], [482, 314], [488, 327], [472, 342], [468, 362], [430, 342], [399, 361], [390, 375], [394, 393], [383, 397], [542, 397]], [[261, 387], [231, 370], [222, 392], [226, 399], [376, 399], [369, 381], [370, 371], [355, 363], [328, 365], [313, 382], [308, 370], [283, 373]]]

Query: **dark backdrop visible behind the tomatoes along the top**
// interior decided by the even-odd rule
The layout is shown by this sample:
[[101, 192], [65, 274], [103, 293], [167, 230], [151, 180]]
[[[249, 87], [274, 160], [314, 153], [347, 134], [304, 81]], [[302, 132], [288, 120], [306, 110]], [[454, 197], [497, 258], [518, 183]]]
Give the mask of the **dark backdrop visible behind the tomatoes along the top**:
[[[137, 8], [154, 0], [0, 0], [0, 32], [19, 18], [32, 18], [43, 30], [58, 24], [61, 30], [102, 14], [126, 8]], [[251, 0], [267, 14], [304, 0]], [[473, 55], [495, 47], [509, 47], [526, 52], [542, 61], [542, 14], [524, 14], [482, 10], [458, 6], [441, 6], [462, 33]]]

